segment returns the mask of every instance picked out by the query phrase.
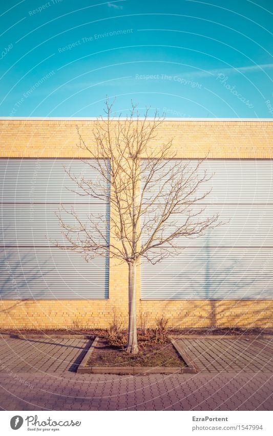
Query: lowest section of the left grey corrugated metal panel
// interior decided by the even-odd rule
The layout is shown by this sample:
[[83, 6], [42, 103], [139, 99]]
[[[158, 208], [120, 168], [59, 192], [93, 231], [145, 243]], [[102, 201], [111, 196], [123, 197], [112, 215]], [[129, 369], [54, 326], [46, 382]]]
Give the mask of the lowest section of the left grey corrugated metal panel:
[[108, 298], [109, 260], [85, 262], [78, 253], [57, 248], [2, 251], [0, 299]]

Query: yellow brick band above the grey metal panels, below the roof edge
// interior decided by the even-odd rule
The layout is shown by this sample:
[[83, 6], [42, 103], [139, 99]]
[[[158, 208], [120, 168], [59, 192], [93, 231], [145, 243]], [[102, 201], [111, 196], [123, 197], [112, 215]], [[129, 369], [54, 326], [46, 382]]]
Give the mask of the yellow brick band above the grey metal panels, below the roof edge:
[[[78, 143], [77, 127], [92, 145], [93, 121], [0, 120], [1, 157], [89, 157]], [[272, 158], [273, 122], [165, 121], [154, 143], [174, 138], [177, 157]]]

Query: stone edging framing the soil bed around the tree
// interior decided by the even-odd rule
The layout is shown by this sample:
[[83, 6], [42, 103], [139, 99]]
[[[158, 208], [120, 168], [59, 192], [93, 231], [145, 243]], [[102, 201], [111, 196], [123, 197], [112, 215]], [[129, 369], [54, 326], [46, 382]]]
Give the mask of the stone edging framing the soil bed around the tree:
[[[99, 336], [97, 336], [90, 349], [87, 351], [85, 357], [83, 357], [82, 362], [78, 366], [78, 374], [196, 374], [196, 369], [191, 365], [188, 367], [145, 367], [145, 366], [120, 366], [120, 367], [109, 367], [109, 366], [87, 366], [92, 352], [98, 343]], [[172, 341], [173, 343], [173, 341]], [[174, 344], [173, 344], [174, 345]], [[176, 345], [174, 347], [177, 349]], [[177, 349], [178, 351], [178, 349]], [[179, 351], [178, 351], [179, 352]], [[180, 352], [179, 352], [180, 354]], [[181, 355], [181, 354], [180, 354]], [[184, 359], [184, 357], [181, 355]], [[184, 359], [185, 361], [185, 359]], [[185, 361], [186, 362], [186, 361]], [[186, 362], [187, 364], [187, 362]], [[187, 364], [188, 365], [188, 364]]]

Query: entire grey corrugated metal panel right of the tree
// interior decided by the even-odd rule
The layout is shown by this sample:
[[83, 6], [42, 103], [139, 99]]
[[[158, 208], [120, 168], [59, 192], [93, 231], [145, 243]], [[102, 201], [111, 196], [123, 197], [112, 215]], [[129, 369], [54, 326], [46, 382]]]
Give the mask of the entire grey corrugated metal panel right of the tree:
[[[196, 162], [185, 161], [189, 165]], [[172, 161], [168, 165], [171, 168]], [[197, 202], [192, 211], [205, 208], [198, 217], [200, 220], [219, 214], [221, 225], [198, 238], [176, 239], [177, 254], [171, 251], [170, 257], [155, 265], [142, 258], [141, 298], [272, 299], [272, 161], [206, 160], [198, 169], [200, 175], [204, 169], [213, 177], [199, 194], [212, 191]], [[162, 181], [144, 197], [147, 204], [152, 203], [160, 187]], [[167, 191], [166, 184], [163, 194]], [[160, 214], [160, 198], [163, 196], [157, 199], [152, 218], [153, 213]], [[142, 224], [145, 220], [148, 222], [149, 217], [143, 216]], [[172, 216], [159, 237], [171, 234], [184, 220], [181, 213]], [[146, 229], [148, 234], [154, 221], [151, 219], [150, 228]], [[156, 255], [157, 251], [154, 249], [150, 253]]]

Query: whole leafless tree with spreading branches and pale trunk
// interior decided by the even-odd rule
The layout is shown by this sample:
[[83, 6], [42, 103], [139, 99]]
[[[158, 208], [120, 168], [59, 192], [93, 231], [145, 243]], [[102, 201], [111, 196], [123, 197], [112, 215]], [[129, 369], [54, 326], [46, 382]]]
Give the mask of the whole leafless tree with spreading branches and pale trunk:
[[[88, 151], [83, 162], [95, 169], [100, 181], [75, 175], [75, 192], [107, 201], [109, 219], [91, 214], [83, 221], [74, 208], [64, 206], [57, 214], [62, 235], [68, 247], [57, 247], [81, 253], [87, 261], [95, 255], [119, 259], [128, 264], [129, 288], [129, 353], [137, 353], [136, 271], [141, 257], [156, 263], [181, 250], [179, 238], [194, 238], [217, 225], [218, 215], [204, 217], [198, 202], [209, 191], [201, 185], [211, 177], [202, 170], [204, 159], [195, 163], [176, 159], [172, 140], [156, 144], [158, 127], [164, 121], [158, 114], [139, 118], [132, 103], [130, 116], [113, 119], [112, 106], [106, 102], [106, 117], [94, 123], [92, 146], [78, 130], [78, 146]], [[92, 141], [92, 142], [93, 142]], [[64, 213], [72, 216], [67, 223]], [[105, 231], [107, 229], [107, 232]]]

